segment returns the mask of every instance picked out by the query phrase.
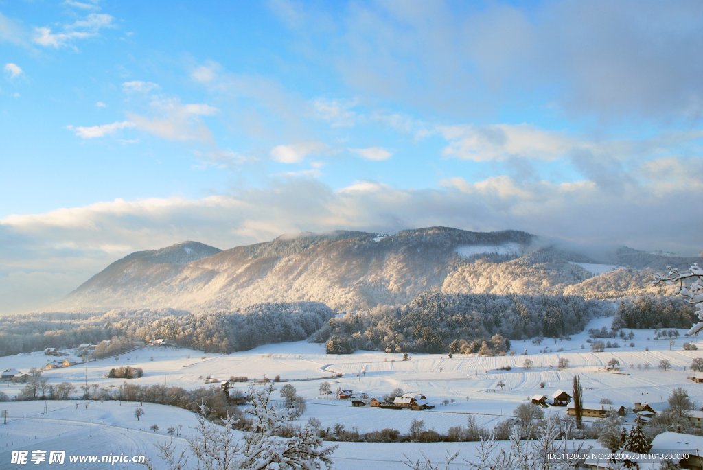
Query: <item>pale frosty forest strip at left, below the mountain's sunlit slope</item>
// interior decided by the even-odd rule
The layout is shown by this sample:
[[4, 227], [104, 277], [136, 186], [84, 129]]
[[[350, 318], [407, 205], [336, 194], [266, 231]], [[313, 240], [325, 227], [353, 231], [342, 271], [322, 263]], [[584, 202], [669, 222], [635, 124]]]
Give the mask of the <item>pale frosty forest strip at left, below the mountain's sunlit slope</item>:
[[0, 317], [0, 355], [75, 348], [106, 339], [123, 344], [160, 338], [205, 352], [232, 353], [306, 339], [333, 315], [316, 302], [260, 303], [241, 312], [204, 315], [170, 308], [12, 315]]

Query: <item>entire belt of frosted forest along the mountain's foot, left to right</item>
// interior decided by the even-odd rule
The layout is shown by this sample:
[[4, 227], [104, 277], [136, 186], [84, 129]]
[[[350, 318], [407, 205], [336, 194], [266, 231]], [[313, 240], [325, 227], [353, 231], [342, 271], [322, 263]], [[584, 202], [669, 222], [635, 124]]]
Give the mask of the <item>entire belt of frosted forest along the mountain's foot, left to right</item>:
[[356, 349], [387, 353], [510, 351], [508, 339], [566, 337], [598, 315], [612, 328], [688, 328], [693, 308], [671, 296], [612, 302], [582, 296], [420, 294], [401, 306], [336, 314], [324, 303], [259, 303], [239, 312], [195, 315], [171, 308], [102, 313], [34, 313], [0, 317], [0, 355], [98, 344], [95, 358], [122, 353], [134, 341], [168, 339], [181, 347], [232, 353], [283, 341], [325, 343], [328, 353]]

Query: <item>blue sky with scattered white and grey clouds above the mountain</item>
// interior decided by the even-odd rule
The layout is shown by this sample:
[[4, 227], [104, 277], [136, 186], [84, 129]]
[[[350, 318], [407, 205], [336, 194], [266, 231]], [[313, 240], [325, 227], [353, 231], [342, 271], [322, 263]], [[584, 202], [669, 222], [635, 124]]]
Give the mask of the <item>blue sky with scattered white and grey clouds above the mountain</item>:
[[137, 249], [514, 228], [701, 251], [697, 1], [0, 0], [0, 296]]

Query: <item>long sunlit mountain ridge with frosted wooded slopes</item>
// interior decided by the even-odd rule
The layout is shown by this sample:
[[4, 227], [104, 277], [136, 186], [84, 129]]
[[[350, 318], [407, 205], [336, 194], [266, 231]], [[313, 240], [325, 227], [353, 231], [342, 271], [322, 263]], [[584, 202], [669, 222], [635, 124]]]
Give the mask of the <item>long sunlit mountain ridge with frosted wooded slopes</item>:
[[593, 259], [516, 230], [444, 227], [299, 233], [226, 251], [184, 242], [115, 261], [54, 308], [207, 312], [318, 301], [356, 310], [408, 303], [432, 290], [612, 298], [652, 291], [646, 268], [662, 270], [664, 259], [682, 267], [700, 261], [632, 249]]

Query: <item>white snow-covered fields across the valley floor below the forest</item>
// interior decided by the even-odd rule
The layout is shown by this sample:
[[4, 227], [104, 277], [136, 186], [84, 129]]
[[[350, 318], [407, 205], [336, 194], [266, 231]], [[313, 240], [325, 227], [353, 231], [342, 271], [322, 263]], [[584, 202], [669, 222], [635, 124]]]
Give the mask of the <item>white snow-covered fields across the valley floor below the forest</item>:
[[[586, 330], [610, 327], [612, 318], [598, 318]], [[626, 333], [629, 330], [626, 329]], [[703, 384], [686, 380], [693, 358], [703, 357], [703, 351], [683, 351], [684, 330], [671, 346], [669, 341], [654, 341], [651, 329], [633, 331], [633, 339], [603, 339], [619, 343], [619, 348], [607, 348], [603, 353], [591, 352], [586, 343], [586, 332], [574, 334], [569, 340], [545, 339], [541, 344], [532, 341], [512, 341], [515, 355], [479, 357], [476, 355], [416, 354], [410, 360], [401, 355], [372, 351], [359, 351], [351, 355], [325, 354], [324, 346], [304, 341], [261, 346], [230, 355], [205, 354], [200, 351], [178, 348], [140, 348], [115, 358], [78, 364], [63, 369], [46, 370], [44, 377], [51, 384], [70, 381], [77, 387], [97, 383], [103, 387], [117, 387], [123, 379], [107, 379], [110, 367], [131, 365], [142, 367], [141, 379], [131, 379], [135, 384], [166, 384], [193, 389], [205, 384], [207, 376], [228, 379], [230, 376], [247, 376], [250, 379], [273, 378], [291, 380], [299, 395], [307, 401], [307, 411], [301, 422], [316, 417], [325, 427], [344, 424], [345, 429], [359, 432], [394, 428], [406, 433], [413, 419], [422, 419], [426, 429], [446, 432], [451, 426], [465, 424], [473, 415], [479, 425], [492, 428], [508, 419], [512, 410], [526, 403], [536, 393], [550, 395], [557, 389], [571, 391], [572, 378], [581, 377], [584, 401], [598, 402], [610, 398], [615, 403], [632, 406], [634, 401], [658, 402], [666, 400], [671, 391], [683, 386], [697, 403], [703, 403]], [[630, 343], [634, 346], [629, 346]], [[703, 342], [692, 341], [699, 349]], [[671, 351], [669, 348], [671, 347]], [[526, 352], [527, 354], [524, 354]], [[529, 358], [533, 365], [523, 367]], [[569, 366], [557, 370], [560, 358]], [[620, 370], [609, 371], [605, 365], [615, 358]], [[659, 370], [663, 359], [669, 360], [671, 370]], [[0, 370], [16, 368], [27, 372], [30, 367], [42, 367], [49, 360], [43, 353], [29, 353], [0, 358]], [[501, 367], [510, 366], [510, 370]], [[341, 377], [335, 374], [341, 373]], [[304, 380], [300, 380], [304, 379]], [[347, 400], [318, 396], [322, 381], [329, 381], [333, 391], [351, 389], [365, 392], [369, 397], [383, 396], [393, 389], [423, 393], [434, 410], [382, 410], [371, 407], [352, 407]], [[500, 384], [503, 383], [501, 387]], [[542, 389], [541, 383], [545, 386]], [[244, 386], [243, 384], [241, 386]], [[22, 384], [0, 383], [0, 391], [14, 396]], [[78, 393], [78, 392], [77, 392]], [[276, 394], [278, 398], [278, 394]], [[444, 401], [449, 404], [443, 405]], [[85, 405], [87, 404], [87, 407]], [[69, 450], [74, 454], [119, 454], [120, 452], [155, 455], [155, 443], [165, 439], [169, 427], [178, 424], [187, 431], [195, 417], [191, 412], [162, 405], [144, 403], [146, 411], [141, 421], [134, 417], [135, 403], [105, 401], [0, 403], [0, 410], [8, 410], [8, 424], [0, 424], [0, 468], [8, 468], [11, 450]], [[565, 408], [550, 408], [565, 412]], [[87, 437], [92, 420], [93, 437]], [[157, 424], [159, 431], [150, 431]], [[183, 431], [185, 432], [185, 431]], [[60, 437], [59, 437], [60, 436]], [[441, 460], [445, 452], [459, 451], [469, 459], [474, 454], [472, 444], [371, 444], [343, 443], [335, 452], [335, 463], [340, 469], [356, 468], [406, 468], [399, 461], [403, 455], [411, 459], [420, 457], [420, 451], [433, 459]], [[360, 459], [366, 459], [361, 462]], [[71, 468], [100, 468], [96, 464]], [[91, 466], [92, 465], [92, 466]], [[127, 465], [127, 464], [122, 464]], [[143, 468], [141, 466], [114, 468]]]

